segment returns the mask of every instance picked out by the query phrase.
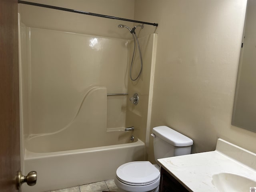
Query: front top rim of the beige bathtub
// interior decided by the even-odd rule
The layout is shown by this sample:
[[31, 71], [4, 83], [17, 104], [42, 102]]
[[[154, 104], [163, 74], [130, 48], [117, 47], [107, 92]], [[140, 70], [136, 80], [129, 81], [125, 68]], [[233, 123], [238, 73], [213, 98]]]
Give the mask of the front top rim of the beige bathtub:
[[140, 140], [139, 138], [137, 139], [138, 140], [136, 142], [132, 142], [132, 143], [74, 149], [74, 150], [66, 150], [66, 151], [58, 151], [58, 152], [47, 152], [47, 153], [31, 152], [27, 150], [25, 146], [24, 160], [48, 158], [48, 157], [54, 157], [54, 156], [67, 156], [72, 154], [82, 154], [84, 152], [89, 153], [89, 152], [99, 152], [99, 151], [105, 151], [105, 150], [115, 150], [117, 148], [130, 148], [131, 146], [145, 146], [145, 143], [142, 140]]

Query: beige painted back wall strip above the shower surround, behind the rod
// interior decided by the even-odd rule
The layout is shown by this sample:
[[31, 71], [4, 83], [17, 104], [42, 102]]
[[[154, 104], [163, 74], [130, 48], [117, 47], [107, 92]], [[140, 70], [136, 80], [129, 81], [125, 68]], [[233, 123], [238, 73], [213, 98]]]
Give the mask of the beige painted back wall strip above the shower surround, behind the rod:
[[[30, 0], [30, 2], [76, 9], [97, 14], [133, 19], [134, 0]], [[22, 22], [29, 27], [131, 39], [118, 24], [131, 22], [19, 4]]]

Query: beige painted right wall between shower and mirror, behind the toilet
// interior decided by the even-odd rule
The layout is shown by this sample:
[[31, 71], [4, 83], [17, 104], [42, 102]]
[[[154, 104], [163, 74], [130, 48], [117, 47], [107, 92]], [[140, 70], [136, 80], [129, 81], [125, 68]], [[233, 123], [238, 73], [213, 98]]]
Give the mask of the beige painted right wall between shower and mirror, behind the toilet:
[[135, 2], [134, 19], [159, 23], [151, 128], [192, 138], [192, 152], [214, 150], [217, 138], [256, 152], [256, 133], [231, 125], [245, 9], [246, 0]]

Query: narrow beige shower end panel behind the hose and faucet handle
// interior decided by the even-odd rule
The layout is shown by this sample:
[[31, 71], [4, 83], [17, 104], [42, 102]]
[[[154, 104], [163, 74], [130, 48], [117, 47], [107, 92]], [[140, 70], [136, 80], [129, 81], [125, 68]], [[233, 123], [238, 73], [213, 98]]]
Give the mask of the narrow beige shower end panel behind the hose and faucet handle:
[[[130, 98], [134, 93], [138, 93], [139, 102], [138, 105], [133, 105], [129, 100], [127, 101], [126, 126], [134, 126], [134, 134], [145, 142], [147, 146], [150, 135], [149, 130], [156, 62], [157, 34], [150, 34], [139, 38], [138, 40], [142, 53], [143, 68], [138, 80], [128, 81], [128, 97]], [[130, 50], [130, 53], [132, 53], [132, 50]], [[132, 56], [129, 58], [132, 58]], [[137, 52], [132, 70], [132, 77], [136, 77], [139, 71], [140, 57]]]

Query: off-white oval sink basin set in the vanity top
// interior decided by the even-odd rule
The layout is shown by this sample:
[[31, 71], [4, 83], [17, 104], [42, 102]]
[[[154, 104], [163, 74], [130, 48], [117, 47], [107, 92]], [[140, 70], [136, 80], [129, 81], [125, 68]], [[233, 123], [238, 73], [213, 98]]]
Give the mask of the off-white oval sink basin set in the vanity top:
[[250, 187], [256, 187], [256, 181], [233, 173], [214, 174], [212, 184], [220, 192], [249, 192]]

